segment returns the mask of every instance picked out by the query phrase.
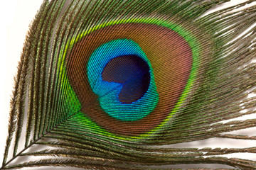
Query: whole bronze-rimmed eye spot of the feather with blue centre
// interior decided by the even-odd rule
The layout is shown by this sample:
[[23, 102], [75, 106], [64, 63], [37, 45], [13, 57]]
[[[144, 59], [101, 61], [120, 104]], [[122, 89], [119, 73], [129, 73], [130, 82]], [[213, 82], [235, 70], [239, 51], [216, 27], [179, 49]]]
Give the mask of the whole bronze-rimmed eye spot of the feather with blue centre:
[[73, 40], [67, 76], [81, 111], [99, 129], [138, 136], [161, 129], [186, 97], [200, 46], [174, 23], [127, 22], [107, 23]]

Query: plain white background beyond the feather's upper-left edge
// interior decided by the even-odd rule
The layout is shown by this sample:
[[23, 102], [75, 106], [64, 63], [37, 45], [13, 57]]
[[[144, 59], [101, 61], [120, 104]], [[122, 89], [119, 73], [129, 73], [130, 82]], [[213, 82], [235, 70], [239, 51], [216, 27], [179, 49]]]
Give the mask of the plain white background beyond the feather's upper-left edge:
[[[9, 123], [9, 106], [14, 76], [28, 26], [43, 0], [7, 0], [0, 4], [0, 164]], [[225, 6], [238, 4], [233, 0]], [[224, 7], [224, 6], [222, 6]], [[242, 144], [244, 145], [244, 144]], [[242, 146], [245, 147], [245, 146]], [[252, 146], [250, 146], [252, 147]]]

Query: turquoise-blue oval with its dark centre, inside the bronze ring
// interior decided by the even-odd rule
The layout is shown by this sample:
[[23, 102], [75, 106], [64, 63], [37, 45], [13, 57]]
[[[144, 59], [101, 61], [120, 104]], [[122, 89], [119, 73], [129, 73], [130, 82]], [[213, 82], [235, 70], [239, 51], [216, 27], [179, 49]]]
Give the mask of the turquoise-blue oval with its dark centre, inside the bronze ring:
[[87, 64], [87, 77], [102, 109], [117, 120], [140, 120], [158, 103], [153, 69], [133, 40], [112, 40], [97, 47]]

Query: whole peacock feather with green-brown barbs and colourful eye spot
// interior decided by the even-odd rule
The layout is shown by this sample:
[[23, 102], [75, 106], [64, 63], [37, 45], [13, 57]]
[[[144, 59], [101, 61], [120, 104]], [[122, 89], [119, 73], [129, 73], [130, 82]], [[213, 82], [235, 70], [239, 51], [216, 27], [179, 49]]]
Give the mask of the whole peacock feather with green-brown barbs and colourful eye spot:
[[256, 169], [255, 159], [228, 157], [256, 147], [186, 147], [256, 140], [231, 132], [256, 126], [256, 6], [206, 13], [225, 2], [43, 1], [0, 169]]

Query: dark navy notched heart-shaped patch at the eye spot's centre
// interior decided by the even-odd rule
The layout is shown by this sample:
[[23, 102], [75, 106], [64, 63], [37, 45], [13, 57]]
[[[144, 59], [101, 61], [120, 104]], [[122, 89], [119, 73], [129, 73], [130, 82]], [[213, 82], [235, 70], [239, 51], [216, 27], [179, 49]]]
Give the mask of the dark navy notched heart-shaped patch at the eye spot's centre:
[[119, 101], [132, 103], [142, 98], [149, 89], [149, 65], [137, 55], [115, 57], [103, 69], [102, 79], [122, 84]]

